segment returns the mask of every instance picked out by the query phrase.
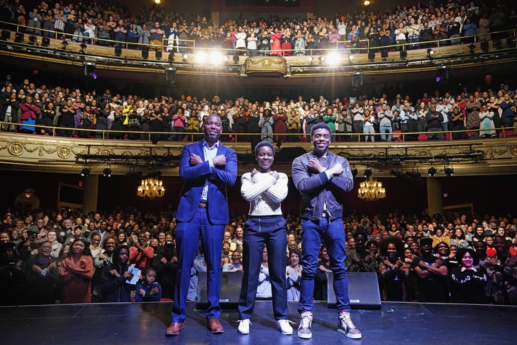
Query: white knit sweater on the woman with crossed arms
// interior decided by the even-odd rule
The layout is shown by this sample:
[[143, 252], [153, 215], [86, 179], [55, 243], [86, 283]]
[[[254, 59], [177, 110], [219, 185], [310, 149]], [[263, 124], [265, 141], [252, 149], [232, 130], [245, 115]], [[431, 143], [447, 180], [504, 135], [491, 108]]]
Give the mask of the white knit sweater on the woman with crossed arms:
[[287, 175], [278, 172], [276, 180], [269, 172], [246, 172], [241, 178], [241, 195], [250, 201], [252, 216], [282, 215], [281, 201], [287, 197]]

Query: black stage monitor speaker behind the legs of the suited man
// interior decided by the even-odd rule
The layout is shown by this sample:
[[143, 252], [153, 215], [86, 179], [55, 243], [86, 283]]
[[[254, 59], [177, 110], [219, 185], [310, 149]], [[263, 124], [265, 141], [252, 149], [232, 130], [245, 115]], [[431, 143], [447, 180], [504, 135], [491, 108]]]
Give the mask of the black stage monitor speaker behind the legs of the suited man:
[[[239, 304], [242, 282], [242, 270], [238, 270], [236, 272], [221, 272], [221, 293], [219, 295], [219, 304], [221, 304], [221, 306], [236, 306]], [[206, 272], [199, 272], [198, 275], [197, 305], [199, 308], [210, 305], [207, 296]]]

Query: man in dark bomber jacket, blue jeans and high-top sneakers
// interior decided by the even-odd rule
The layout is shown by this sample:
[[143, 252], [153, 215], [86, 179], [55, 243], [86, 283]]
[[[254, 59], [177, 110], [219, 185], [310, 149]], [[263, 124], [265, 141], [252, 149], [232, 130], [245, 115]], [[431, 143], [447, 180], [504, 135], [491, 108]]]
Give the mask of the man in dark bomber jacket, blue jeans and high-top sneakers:
[[332, 131], [327, 124], [311, 129], [312, 152], [294, 159], [292, 178], [301, 194], [302, 261], [301, 293], [298, 311], [301, 322], [298, 337], [312, 337], [312, 295], [318, 266], [321, 240], [325, 242], [334, 273], [334, 293], [338, 308], [338, 331], [352, 339], [361, 338], [361, 331], [350, 317], [348, 277], [345, 266], [345, 232], [343, 231], [343, 193], [354, 187], [354, 177], [347, 159], [329, 152]]

